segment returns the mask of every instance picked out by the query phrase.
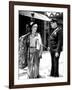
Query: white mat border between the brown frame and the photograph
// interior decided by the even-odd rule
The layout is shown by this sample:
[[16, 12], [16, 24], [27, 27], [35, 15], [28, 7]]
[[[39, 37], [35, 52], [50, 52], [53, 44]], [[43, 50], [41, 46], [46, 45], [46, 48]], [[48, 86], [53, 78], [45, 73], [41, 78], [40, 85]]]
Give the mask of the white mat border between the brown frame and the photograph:
[[[56, 11], [63, 12], [63, 60], [64, 60], [64, 77], [52, 78], [52, 79], [26, 79], [18, 80], [18, 35], [19, 35], [19, 10], [30, 10], [30, 11]], [[14, 85], [24, 85], [24, 84], [38, 84], [38, 83], [56, 83], [56, 82], [67, 82], [67, 8], [54, 8], [54, 7], [39, 7], [39, 6], [14, 6]]]

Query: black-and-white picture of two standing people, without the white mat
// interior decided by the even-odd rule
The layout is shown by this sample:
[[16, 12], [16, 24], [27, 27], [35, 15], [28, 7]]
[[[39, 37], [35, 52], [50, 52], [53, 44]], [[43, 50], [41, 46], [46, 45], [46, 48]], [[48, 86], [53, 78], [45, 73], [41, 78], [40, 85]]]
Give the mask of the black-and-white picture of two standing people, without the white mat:
[[19, 79], [63, 77], [62, 52], [62, 12], [19, 11]]

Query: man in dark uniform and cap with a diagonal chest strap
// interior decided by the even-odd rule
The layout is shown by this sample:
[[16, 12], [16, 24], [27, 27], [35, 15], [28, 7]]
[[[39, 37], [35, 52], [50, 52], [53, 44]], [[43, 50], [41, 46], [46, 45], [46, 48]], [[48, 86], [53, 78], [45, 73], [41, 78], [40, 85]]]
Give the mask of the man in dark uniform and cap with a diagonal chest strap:
[[58, 26], [57, 20], [50, 22], [51, 30], [49, 37], [49, 47], [51, 53], [51, 73], [50, 76], [59, 77], [59, 57], [63, 46], [63, 29]]

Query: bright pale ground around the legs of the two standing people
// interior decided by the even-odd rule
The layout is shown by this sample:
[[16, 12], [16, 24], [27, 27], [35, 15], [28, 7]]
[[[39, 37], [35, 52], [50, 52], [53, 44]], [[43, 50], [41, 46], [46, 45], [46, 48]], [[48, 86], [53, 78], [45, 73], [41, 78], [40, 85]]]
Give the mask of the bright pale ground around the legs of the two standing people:
[[[59, 77], [63, 77], [63, 55], [61, 53], [60, 59], [59, 59]], [[24, 69], [19, 69], [19, 79], [28, 79], [27, 75], [27, 69], [28, 67]], [[51, 56], [49, 51], [44, 51], [42, 54], [42, 59], [40, 59], [40, 67], [39, 67], [39, 73], [41, 78], [49, 78], [51, 71]]]

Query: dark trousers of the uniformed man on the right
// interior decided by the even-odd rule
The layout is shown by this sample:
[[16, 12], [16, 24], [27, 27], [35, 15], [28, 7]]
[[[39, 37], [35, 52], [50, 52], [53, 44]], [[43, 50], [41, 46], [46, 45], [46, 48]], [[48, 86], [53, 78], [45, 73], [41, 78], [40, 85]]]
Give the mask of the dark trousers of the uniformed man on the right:
[[55, 51], [51, 51], [51, 76], [58, 77], [59, 76], [59, 56], [55, 56]]

